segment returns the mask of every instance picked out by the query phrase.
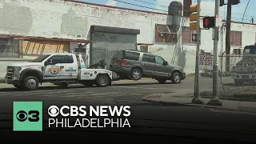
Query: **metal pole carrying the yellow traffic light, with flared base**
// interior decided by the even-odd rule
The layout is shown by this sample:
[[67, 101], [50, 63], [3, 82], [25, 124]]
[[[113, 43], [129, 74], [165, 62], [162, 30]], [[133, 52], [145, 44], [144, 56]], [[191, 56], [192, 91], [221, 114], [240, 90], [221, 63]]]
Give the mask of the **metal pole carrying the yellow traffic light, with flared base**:
[[201, 44], [201, 28], [200, 28], [200, 4], [201, 0], [198, 0], [197, 4], [197, 49], [196, 49], [196, 61], [195, 61], [195, 76], [194, 76], [194, 98], [192, 103], [203, 104], [202, 97], [199, 90], [199, 51]]

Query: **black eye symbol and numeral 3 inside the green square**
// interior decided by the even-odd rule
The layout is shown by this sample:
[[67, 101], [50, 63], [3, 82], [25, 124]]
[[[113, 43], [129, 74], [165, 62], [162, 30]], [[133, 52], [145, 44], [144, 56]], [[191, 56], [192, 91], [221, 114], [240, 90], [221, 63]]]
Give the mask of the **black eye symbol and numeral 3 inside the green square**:
[[24, 110], [18, 111], [16, 114], [16, 118], [19, 122], [25, 122], [29, 120], [30, 122], [38, 122], [39, 121], [39, 111], [38, 110], [30, 110], [28, 113]]

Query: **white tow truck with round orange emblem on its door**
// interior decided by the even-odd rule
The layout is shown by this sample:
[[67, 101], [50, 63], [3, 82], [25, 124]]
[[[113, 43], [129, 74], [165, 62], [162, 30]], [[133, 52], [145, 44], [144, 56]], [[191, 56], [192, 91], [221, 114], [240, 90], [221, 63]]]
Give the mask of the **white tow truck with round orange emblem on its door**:
[[32, 62], [10, 64], [6, 73], [6, 83], [22, 90], [37, 90], [42, 82], [99, 87], [110, 86], [112, 82], [112, 71], [86, 68], [82, 54], [42, 54]]

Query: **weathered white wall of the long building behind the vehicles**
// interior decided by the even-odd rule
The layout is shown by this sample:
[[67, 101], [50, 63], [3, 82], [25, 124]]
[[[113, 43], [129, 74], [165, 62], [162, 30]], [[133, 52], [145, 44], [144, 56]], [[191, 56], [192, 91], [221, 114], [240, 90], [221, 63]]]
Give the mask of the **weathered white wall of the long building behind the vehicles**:
[[[46, 38], [90, 40], [90, 26], [93, 25], [138, 29], [141, 32], [138, 35], [138, 43], [154, 43], [154, 46], [149, 46], [151, 53], [159, 54], [166, 61], [183, 66], [188, 74], [194, 73], [195, 45], [176, 46], [174, 43], [154, 42], [155, 24], [171, 24], [172, 17], [166, 14], [62, 0], [1, 0], [0, 18], [0, 34]], [[188, 19], [184, 20], [183, 26], [189, 26]], [[241, 47], [254, 44], [256, 26], [232, 23], [231, 30], [242, 31]], [[222, 36], [219, 51], [221, 48], [225, 51], [225, 32]], [[213, 51], [212, 30], [202, 30], [201, 42], [202, 50]], [[70, 49], [72, 50], [76, 45], [77, 42], [70, 42]], [[232, 46], [233, 48], [235, 47]], [[87, 56], [90, 55], [90, 45], [86, 46], [86, 53]], [[1, 62], [0, 69], [5, 69], [9, 63], [10, 61]], [[2, 75], [4, 74], [0, 71], [0, 77]]]

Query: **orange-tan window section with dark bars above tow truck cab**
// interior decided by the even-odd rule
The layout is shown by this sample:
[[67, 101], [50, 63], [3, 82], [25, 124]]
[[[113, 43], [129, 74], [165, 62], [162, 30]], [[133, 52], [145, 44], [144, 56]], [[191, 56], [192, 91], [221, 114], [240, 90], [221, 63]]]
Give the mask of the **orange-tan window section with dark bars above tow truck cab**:
[[69, 53], [70, 42], [23, 41], [23, 55], [37, 56], [47, 53]]

